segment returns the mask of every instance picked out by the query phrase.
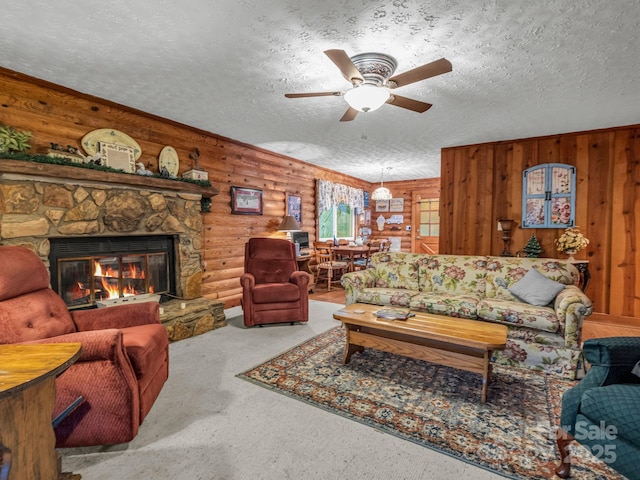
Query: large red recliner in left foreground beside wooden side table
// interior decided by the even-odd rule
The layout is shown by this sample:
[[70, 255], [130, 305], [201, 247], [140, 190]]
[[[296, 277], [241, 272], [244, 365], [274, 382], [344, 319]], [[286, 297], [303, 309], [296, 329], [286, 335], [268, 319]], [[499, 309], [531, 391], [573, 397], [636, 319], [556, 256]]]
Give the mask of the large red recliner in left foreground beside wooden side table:
[[69, 312], [49, 288], [40, 258], [0, 247], [0, 343], [80, 342], [79, 359], [56, 379], [56, 447], [132, 440], [169, 374], [169, 340], [156, 302]]

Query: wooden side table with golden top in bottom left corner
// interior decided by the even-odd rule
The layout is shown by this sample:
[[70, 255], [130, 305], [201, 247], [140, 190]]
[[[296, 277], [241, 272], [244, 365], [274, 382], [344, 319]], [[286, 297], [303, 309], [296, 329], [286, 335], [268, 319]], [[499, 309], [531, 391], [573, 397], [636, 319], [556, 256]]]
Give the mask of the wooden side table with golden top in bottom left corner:
[[80, 343], [0, 345], [0, 443], [11, 452], [11, 480], [58, 479], [55, 379], [80, 349]]

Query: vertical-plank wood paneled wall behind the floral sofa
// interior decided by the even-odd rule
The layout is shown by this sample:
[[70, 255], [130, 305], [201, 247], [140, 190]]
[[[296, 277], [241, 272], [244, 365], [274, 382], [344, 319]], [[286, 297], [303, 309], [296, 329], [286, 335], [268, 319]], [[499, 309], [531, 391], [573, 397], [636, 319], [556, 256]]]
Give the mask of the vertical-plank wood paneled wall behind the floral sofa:
[[[522, 172], [543, 163], [576, 167], [576, 225], [590, 240], [587, 295], [597, 312], [640, 317], [640, 125], [445, 148], [442, 253], [499, 255], [498, 218], [513, 218], [511, 251], [535, 233], [544, 256], [562, 229], [522, 229]], [[640, 212], [640, 209], [639, 209]]]

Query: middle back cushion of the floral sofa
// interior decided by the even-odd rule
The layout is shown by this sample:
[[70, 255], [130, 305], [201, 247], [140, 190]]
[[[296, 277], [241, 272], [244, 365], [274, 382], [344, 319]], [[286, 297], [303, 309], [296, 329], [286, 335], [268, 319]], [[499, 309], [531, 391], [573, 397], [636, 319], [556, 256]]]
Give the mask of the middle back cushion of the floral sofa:
[[484, 295], [486, 257], [463, 255], [425, 256], [418, 262], [420, 290]]

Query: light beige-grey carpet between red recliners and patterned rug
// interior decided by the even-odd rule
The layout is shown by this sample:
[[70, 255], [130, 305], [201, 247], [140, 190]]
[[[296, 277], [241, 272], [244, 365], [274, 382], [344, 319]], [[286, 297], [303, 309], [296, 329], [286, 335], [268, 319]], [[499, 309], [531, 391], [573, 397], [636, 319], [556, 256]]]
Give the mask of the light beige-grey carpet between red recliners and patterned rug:
[[129, 444], [62, 450], [83, 480], [495, 480], [503, 478], [236, 377], [339, 323], [310, 301], [305, 325], [228, 326], [170, 347], [169, 381]]

